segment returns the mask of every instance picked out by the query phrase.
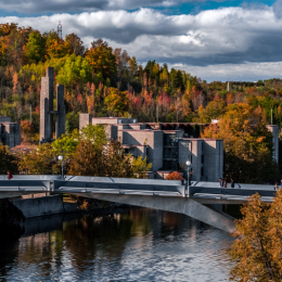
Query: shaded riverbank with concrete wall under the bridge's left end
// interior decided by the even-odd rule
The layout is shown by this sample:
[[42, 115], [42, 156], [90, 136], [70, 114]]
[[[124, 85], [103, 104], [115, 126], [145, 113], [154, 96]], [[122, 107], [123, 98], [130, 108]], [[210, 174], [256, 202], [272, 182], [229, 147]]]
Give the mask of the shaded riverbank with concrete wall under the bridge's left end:
[[100, 200], [50, 195], [47, 193], [0, 200], [0, 240], [1, 242], [12, 241], [26, 233], [26, 231], [29, 233], [28, 230], [25, 230], [25, 220], [29, 222], [34, 220], [34, 222], [37, 222], [34, 225], [35, 230], [40, 230], [40, 226], [47, 226], [50, 216], [110, 214], [127, 207]]

